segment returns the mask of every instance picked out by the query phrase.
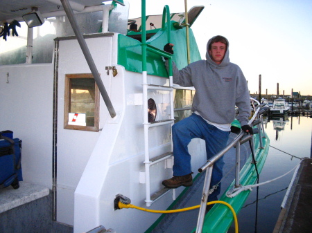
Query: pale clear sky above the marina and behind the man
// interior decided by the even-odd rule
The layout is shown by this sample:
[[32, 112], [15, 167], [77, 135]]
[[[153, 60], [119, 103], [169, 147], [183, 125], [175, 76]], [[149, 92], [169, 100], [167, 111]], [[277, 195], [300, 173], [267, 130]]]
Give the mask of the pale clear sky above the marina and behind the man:
[[[129, 18], [141, 16], [141, 0], [128, 0]], [[146, 0], [146, 15], [184, 12], [184, 0]], [[189, 0], [205, 6], [191, 27], [202, 59], [207, 41], [215, 35], [229, 40], [230, 61], [238, 64], [250, 93], [312, 95], [311, 0]]]

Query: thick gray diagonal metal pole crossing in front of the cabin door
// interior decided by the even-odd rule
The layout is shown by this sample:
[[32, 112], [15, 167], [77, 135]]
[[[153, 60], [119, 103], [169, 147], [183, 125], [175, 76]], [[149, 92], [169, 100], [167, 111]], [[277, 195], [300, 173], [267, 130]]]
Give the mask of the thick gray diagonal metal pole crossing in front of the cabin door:
[[67, 0], [60, 0], [60, 1], [62, 2], [62, 6], [66, 12], [66, 15], [69, 19], [69, 22], [71, 23], [71, 27], [73, 28], [73, 32], [75, 32], [75, 35], [77, 37], [80, 48], [81, 48], [81, 50], [83, 50], [83, 55], [85, 55], [85, 59], [87, 61], [87, 64], [89, 65], [89, 68], [92, 72], [94, 80], [95, 80], [96, 84], [98, 85], [98, 90], [100, 91], [100, 93], [103, 97], [103, 100], [107, 106], [107, 109], [110, 113], [110, 116], [112, 118], [114, 118], [116, 116], [116, 112], [114, 111], [114, 107], [112, 106], [112, 102], [110, 101], [110, 97], [107, 95], [107, 92], [105, 90], [105, 86], [101, 80], [101, 77], [98, 74], [98, 69], [96, 68], [96, 65], [94, 64], [94, 60], [93, 60], [92, 55], [89, 51], [87, 43], [85, 42], [85, 38], [83, 38], [83, 33], [81, 33], [80, 29], [78, 28], [78, 24], [77, 24], [76, 18], [73, 15], [73, 10], [71, 9], [69, 1], [67, 1]]

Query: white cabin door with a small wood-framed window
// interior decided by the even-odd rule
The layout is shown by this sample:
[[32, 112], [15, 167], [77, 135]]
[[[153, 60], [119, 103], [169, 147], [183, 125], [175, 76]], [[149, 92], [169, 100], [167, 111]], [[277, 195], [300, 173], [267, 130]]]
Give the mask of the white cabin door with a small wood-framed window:
[[[98, 73], [110, 95], [113, 35], [85, 38]], [[58, 72], [54, 178], [56, 221], [73, 225], [74, 192], [101, 132], [108, 111], [76, 39], [55, 42]]]

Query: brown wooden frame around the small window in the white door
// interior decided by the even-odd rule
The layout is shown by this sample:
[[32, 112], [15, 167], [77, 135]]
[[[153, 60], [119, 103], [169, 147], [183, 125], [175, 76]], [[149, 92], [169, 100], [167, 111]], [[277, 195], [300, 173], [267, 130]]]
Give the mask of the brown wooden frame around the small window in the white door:
[[[100, 74], [101, 75], [101, 74]], [[79, 73], [79, 74], [66, 74], [65, 75], [65, 89], [64, 89], [64, 129], [75, 129], [81, 131], [94, 131], [97, 132], [99, 130], [99, 115], [100, 115], [100, 91], [98, 90], [98, 86], [96, 82], [95, 92], [94, 92], [94, 126], [81, 126], [81, 125], [73, 125], [68, 124], [69, 121], [69, 106], [70, 106], [70, 97], [71, 97], [71, 88], [70, 88], [70, 80], [75, 78], [93, 78], [92, 73]]]

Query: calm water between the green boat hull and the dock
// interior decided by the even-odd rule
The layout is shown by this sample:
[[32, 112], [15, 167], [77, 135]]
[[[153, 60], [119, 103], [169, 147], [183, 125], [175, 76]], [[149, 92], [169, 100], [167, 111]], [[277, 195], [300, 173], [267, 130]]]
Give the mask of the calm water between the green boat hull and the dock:
[[[300, 162], [299, 159], [292, 158], [286, 153], [300, 158], [311, 157], [312, 118], [286, 116], [284, 119], [266, 120], [268, 120], [265, 127], [270, 138], [270, 149], [259, 183], [285, 174]], [[253, 189], [238, 214], [240, 233], [272, 233], [292, 177], [293, 171], [279, 180], [260, 186], [258, 192], [257, 188]], [[234, 227], [231, 227], [229, 232], [234, 232]]]

